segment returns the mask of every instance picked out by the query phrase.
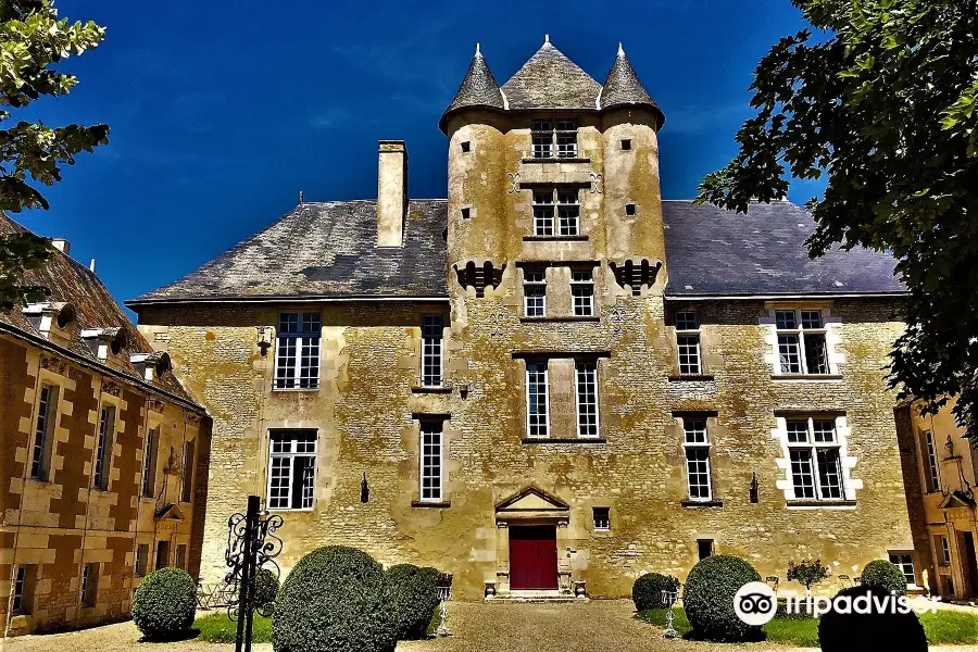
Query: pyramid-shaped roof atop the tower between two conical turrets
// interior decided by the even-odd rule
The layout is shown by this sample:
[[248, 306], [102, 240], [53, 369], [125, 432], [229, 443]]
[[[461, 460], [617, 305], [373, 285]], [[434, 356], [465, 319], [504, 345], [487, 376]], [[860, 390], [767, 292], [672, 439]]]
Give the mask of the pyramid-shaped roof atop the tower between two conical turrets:
[[601, 85], [548, 39], [503, 84], [512, 109], [598, 109]]

